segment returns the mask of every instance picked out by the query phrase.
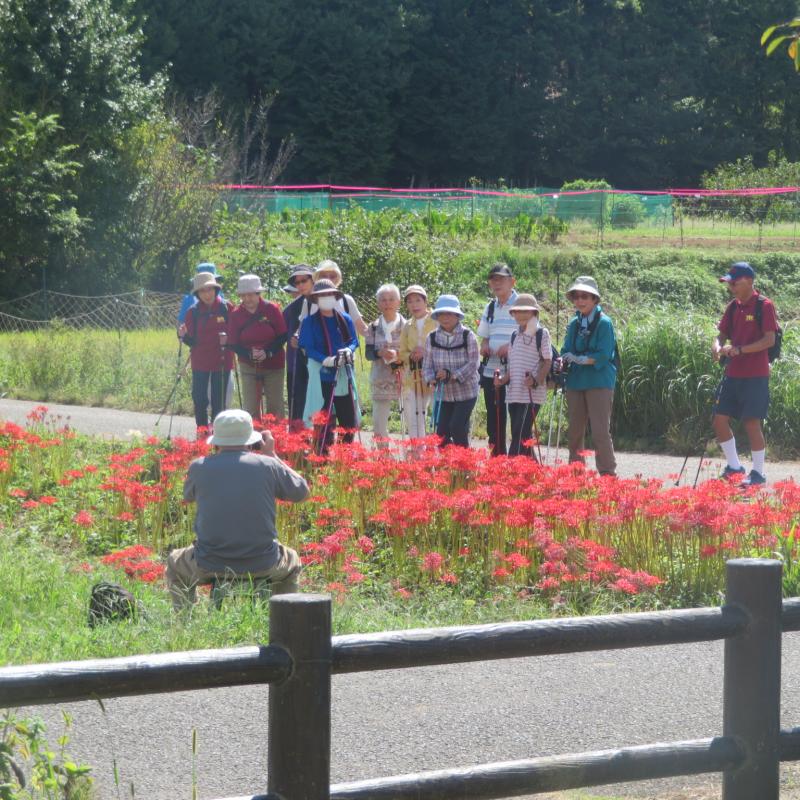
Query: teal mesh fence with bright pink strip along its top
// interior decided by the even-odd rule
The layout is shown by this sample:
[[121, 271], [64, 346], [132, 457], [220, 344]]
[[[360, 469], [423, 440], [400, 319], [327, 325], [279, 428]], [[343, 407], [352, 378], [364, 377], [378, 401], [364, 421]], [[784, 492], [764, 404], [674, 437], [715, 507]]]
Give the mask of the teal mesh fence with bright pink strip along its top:
[[594, 240], [600, 246], [800, 247], [798, 187], [561, 191], [230, 185], [221, 187], [220, 198], [229, 209], [268, 214], [396, 208], [427, 217], [432, 227], [434, 215], [501, 221], [521, 214], [534, 220], [555, 218], [569, 225], [568, 238]]

